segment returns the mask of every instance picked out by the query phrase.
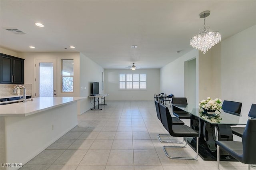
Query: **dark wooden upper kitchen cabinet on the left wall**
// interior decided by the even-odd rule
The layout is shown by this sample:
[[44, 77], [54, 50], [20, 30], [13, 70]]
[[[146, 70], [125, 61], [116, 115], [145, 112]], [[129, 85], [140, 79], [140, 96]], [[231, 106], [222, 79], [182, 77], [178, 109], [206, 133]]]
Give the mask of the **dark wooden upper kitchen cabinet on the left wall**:
[[24, 84], [24, 59], [0, 53], [0, 83]]

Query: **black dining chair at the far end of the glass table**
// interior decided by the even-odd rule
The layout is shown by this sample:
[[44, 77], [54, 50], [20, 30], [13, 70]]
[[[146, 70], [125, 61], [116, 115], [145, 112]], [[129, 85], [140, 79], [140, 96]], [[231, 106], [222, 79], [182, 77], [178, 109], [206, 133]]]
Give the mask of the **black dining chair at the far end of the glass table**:
[[[188, 105], [187, 98], [186, 97], [173, 97], [172, 104], [184, 105], [184, 107], [186, 107], [186, 105]], [[188, 112], [183, 111], [182, 109], [180, 109], [176, 106], [172, 106], [172, 114], [174, 116], [178, 117], [179, 119], [190, 119], [190, 117], [191, 117], [191, 115]]]

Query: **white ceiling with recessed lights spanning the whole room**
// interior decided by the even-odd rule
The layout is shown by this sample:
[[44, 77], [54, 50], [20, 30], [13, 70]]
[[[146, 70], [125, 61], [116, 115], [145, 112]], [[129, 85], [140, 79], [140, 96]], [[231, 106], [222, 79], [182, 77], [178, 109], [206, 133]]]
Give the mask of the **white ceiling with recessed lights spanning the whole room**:
[[255, 0], [1, 0], [0, 45], [17, 52], [77, 51], [103, 68], [125, 68], [133, 62], [160, 68], [192, 50], [190, 38], [203, 28], [199, 14], [205, 10], [211, 12], [206, 25], [219, 31], [222, 40], [256, 25]]

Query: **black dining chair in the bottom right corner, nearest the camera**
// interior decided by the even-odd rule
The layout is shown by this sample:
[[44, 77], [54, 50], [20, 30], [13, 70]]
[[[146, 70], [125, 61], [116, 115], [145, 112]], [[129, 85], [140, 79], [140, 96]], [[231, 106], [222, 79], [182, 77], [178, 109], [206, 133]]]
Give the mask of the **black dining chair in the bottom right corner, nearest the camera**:
[[242, 142], [238, 141], [217, 141], [217, 164], [220, 169], [220, 148], [234, 157], [236, 160], [248, 164], [256, 164], [256, 119], [249, 119], [242, 135]]

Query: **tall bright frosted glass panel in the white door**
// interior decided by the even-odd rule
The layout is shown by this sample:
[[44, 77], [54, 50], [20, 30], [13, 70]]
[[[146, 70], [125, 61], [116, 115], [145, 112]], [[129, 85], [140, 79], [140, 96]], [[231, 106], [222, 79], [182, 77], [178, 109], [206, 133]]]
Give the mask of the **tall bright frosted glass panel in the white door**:
[[52, 97], [53, 92], [53, 63], [40, 63], [40, 97]]

